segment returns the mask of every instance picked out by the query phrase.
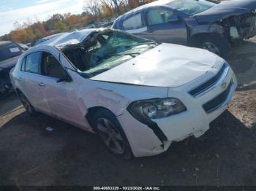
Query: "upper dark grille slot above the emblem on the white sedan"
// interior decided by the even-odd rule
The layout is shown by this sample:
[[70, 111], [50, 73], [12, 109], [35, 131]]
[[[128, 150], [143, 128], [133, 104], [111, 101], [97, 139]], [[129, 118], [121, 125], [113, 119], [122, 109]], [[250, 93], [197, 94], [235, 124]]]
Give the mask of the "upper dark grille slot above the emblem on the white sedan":
[[223, 64], [222, 69], [219, 70], [218, 74], [211, 79], [209, 79], [207, 82], [203, 83], [202, 85], [196, 87], [195, 89], [189, 91], [189, 94], [196, 97], [197, 95], [200, 95], [201, 93], [205, 92], [206, 90], [213, 87], [219, 79], [222, 77], [223, 72], [227, 68], [227, 64]]

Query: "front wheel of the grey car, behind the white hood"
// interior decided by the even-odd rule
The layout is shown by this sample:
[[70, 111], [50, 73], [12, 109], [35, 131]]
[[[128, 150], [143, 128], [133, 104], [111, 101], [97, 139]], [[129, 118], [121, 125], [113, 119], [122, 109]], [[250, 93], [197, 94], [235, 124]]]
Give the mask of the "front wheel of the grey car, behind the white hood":
[[217, 34], [198, 35], [192, 38], [192, 47], [202, 48], [219, 55], [222, 58], [227, 58], [231, 48], [227, 39], [222, 38]]

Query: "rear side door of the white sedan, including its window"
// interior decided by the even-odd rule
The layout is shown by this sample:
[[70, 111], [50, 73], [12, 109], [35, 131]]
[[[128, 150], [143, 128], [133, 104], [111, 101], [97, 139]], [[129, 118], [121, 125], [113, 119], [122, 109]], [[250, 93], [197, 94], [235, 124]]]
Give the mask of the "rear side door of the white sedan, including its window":
[[42, 94], [42, 77], [40, 75], [41, 52], [33, 52], [23, 59], [18, 82], [31, 104], [40, 112], [50, 113], [48, 104]]

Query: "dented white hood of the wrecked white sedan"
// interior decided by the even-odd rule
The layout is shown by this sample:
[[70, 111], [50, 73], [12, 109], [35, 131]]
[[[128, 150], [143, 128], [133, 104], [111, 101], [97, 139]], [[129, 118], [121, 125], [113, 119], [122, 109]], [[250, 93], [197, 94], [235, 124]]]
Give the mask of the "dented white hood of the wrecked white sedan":
[[161, 44], [92, 80], [154, 87], [178, 87], [206, 74], [219, 58], [207, 50]]

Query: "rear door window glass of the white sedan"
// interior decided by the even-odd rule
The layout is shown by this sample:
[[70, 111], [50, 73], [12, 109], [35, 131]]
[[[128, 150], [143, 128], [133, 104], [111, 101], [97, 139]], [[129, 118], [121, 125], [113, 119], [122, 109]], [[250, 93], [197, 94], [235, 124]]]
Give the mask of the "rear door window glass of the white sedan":
[[39, 73], [40, 52], [34, 52], [26, 57], [25, 71]]

